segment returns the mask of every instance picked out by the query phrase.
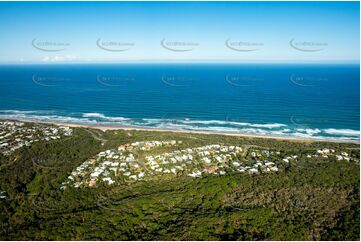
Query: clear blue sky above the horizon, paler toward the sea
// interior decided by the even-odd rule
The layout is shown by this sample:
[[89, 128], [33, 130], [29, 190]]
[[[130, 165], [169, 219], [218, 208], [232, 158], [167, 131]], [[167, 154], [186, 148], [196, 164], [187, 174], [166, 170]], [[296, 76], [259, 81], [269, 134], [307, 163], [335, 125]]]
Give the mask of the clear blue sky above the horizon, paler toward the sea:
[[1, 2], [0, 62], [358, 61], [359, 14], [358, 2]]

